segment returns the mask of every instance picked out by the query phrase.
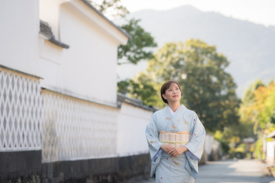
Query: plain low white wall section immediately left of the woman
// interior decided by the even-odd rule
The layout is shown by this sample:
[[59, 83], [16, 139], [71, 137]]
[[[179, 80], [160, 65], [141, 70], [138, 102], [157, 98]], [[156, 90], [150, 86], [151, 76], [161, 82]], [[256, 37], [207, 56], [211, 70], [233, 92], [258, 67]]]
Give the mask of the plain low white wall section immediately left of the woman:
[[117, 152], [119, 156], [148, 153], [145, 129], [152, 115], [152, 111], [122, 103], [118, 115]]

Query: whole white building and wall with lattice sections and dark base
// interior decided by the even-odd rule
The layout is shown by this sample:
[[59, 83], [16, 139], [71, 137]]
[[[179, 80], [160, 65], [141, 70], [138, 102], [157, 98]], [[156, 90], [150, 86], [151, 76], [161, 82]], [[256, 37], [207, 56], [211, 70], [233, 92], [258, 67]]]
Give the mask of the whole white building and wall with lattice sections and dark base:
[[0, 23], [1, 177], [149, 175], [154, 109], [117, 94], [129, 35], [85, 0], [0, 1]]

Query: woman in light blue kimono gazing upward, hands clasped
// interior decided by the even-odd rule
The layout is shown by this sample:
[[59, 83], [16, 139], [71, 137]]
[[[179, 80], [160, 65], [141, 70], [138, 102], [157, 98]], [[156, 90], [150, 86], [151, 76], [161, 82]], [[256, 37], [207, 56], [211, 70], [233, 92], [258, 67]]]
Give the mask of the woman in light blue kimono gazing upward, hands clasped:
[[162, 85], [164, 109], [153, 114], [146, 127], [156, 182], [192, 183], [198, 175], [206, 131], [194, 111], [180, 105], [181, 89], [174, 80]]

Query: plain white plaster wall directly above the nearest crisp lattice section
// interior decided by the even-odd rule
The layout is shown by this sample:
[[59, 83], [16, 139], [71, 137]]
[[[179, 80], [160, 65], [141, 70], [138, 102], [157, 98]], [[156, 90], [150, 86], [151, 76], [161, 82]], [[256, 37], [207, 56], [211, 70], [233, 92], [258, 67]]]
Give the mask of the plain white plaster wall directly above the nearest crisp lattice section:
[[0, 64], [39, 74], [39, 1], [0, 1]]

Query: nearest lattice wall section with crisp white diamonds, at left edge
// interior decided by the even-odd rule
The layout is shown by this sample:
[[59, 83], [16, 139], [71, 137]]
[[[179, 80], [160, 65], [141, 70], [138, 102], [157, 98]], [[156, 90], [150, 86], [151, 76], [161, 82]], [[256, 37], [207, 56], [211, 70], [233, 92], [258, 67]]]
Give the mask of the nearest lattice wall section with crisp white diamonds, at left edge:
[[39, 78], [0, 67], [0, 151], [41, 149]]

